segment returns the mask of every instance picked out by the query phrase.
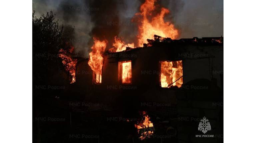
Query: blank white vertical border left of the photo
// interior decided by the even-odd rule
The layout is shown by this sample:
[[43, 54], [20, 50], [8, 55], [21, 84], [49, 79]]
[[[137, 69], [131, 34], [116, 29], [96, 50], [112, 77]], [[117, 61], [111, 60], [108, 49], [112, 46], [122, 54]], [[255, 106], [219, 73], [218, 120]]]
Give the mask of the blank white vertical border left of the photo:
[[32, 142], [32, 1], [0, 1], [1, 143]]

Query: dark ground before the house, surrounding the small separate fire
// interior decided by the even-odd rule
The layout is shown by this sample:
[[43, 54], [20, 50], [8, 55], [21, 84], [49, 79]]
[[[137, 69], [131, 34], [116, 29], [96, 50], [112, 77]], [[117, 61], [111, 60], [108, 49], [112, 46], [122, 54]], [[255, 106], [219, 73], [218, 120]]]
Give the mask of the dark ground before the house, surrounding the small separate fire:
[[[33, 142], [178, 142], [174, 105], [155, 107], [153, 102], [132, 102], [130, 97], [109, 104], [88, 98], [95, 93], [80, 95], [73, 89], [52, 90], [47, 86], [33, 90]], [[137, 108], [141, 103], [145, 105]], [[142, 110], [148, 112], [155, 129], [154, 136], [143, 141], [134, 126], [142, 118]]]

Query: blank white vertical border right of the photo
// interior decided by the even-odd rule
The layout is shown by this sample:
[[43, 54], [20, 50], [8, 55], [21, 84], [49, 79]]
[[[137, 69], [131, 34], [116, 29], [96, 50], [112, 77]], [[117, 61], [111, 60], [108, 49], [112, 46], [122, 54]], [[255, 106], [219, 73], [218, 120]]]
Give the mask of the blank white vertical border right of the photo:
[[256, 142], [256, 2], [224, 1], [224, 142]]

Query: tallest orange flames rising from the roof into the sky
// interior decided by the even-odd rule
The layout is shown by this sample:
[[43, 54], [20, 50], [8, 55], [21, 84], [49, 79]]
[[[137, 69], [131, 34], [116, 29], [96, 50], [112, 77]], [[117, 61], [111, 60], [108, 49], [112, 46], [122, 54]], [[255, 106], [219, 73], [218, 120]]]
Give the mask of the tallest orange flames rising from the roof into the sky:
[[[154, 35], [161, 37], [170, 37], [175, 39], [178, 37], [178, 30], [171, 22], [165, 22], [164, 17], [170, 11], [166, 8], [161, 8], [157, 14], [158, 6], [155, 5], [157, 0], [146, 0], [140, 6], [140, 12], [136, 13], [132, 21], [138, 22], [138, 45], [143, 46], [147, 43], [147, 39], [154, 39]], [[120, 38], [115, 36], [115, 42], [112, 44], [113, 49], [111, 52], [119, 52], [126, 50], [126, 47], [134, 48], [134, 43], [126, 44]]]

